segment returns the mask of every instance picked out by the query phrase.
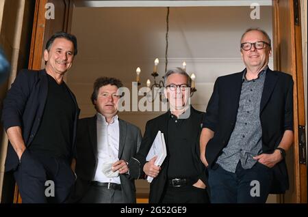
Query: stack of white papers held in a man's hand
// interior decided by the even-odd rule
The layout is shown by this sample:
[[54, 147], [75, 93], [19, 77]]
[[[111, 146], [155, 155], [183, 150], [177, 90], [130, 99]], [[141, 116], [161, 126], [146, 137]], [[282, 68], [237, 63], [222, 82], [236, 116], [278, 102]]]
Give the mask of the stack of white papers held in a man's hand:
[[[152, 158], [154, 158], [154, 156], [157, 156], [155, 163], [154, 163], [156, 166], [161, 166], [167, 156], [167, 149], [166, 149], [164, 134], [160, 132], [160, 130], [157, 132], [157, 135], [153, 141], [151, 149], [148, 155], [146, 156], [146, 161], [151, 160]], [[147, 180], [148, 182], [151, 183], [153, 180], [153, 177], [148, 176]]]

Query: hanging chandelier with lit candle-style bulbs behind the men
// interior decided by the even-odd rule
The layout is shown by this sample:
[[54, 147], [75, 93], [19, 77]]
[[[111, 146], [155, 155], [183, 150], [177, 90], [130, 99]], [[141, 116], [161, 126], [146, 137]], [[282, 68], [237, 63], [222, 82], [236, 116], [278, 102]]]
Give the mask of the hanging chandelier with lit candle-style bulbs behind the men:
[[[169, 7], [167, 7], [167, 14], [166, 14], [166, 49], [165, 49], [165, 74], [167, 72], [167, 68], [168, 68], [168, 33], [169, 33], [169, 13], [170, 13], [170, 9]], [[164, 76], [162, 76], [162, 79], [159, 81], [156, 81], [157, 76], [159, 76], [158, 72], [157, 72], [157, 66], [159, 63], [159, 59], [156, 58], [154, 61], [154, 69], [153, 69], [153, 73], [151, 74], [151, 76], [153, 76], [153, 80], [154, 83], [151, 85], [151, 81], [150, 79], [146, 80], [146, 87], [149, 88], [149, 91], [153, 91], [153, 89], [156, 87], [157, 89], [162, 89], [164, 88]], [[183, 61], [182, 63], [182, 70], [184, 70], [186, 72], [186, 62]], [[140, 83], [140, 72], [141, 69], [140, 67], [138, 67], [136, 69], [136, 81], [138, 83], [138, 86], [141, 85]], [[192, 79], [192, 85], [190, 87], [190, 96], [192, 96], [194, 94], [194, 92], [196, 92], [196, 87], [195, 87], [195, 79], [196, 79], [196, 75], [194, 73], [190, 74], [190, 78]], [[146, 96], [146, 93], [144, 93], [144, 96]], [[155, 100], [156, 96], [154, 97], [153, 100]], [[159, 91], [159, 98], [160, 100], [162, 100], [162, 91]]]

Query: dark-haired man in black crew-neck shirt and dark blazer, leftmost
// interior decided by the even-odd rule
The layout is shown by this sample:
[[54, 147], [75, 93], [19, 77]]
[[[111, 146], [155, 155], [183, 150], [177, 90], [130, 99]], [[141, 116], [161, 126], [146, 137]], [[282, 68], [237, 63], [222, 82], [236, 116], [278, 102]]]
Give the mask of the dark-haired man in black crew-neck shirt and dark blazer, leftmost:
[[63, 203], [75, 182], [70, 162], [79, 109], [63, 81], [75, 55], [75, 36], [55, 33], [44, 50], [46, 68], [19, 72], [4, 100], [5, 171], [14, 171], [23, 203]]

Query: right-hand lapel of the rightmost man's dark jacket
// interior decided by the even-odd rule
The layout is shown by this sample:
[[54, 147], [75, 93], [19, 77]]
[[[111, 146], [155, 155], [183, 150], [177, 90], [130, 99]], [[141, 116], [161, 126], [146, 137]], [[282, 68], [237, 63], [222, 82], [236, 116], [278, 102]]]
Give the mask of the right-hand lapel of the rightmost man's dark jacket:
[[277, 74], [268, 68], [268, 70], [266, 71], [266, 78], [264, 81], [264, 87], [261, 96], [260, 114], [263, 111], [266, 104], [268, 103], [270, 95], [272, 95], [272, 91], [274, 90], [277, 81], [278, 81]]

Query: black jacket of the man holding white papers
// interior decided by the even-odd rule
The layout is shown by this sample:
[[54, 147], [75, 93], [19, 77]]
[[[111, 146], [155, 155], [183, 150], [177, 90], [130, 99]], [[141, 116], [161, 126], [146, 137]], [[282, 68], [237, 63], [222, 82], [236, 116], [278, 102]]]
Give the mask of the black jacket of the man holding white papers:
[[[196, 111], [191, 107], [190, 115], [193, 125], [186, 126], [187, 128], [192, 128], [193, 134], [190, 135], [188, 142], [192, 145], [192, 153], [194, 154], [194, 164], [196, 164], [196, 168], [199, 171], [199, 179], [201, 179], [205, 184], [207, 183], [207, 170], [203, 163], [200, 160], [200, 148], [199, 148], [199, 138], [201, 133], [201, 124], [203, 121], [203, 115], [205, 113], [201, 111]], [[142, 139], [140, 151], [136, 155], [136, 158], [140, 161], [141, 169], [143, 169], [144, 164], [146, 163], [146, 156], [151, 149], [155, 136], [157, 132], [160, 130], [164, 133], [164, 139], [166, 141], [166, 146], [168, 149], [168, 120], [169, 113], [164, 113], [164, 115], [160, 115], [159, 117], [155, 117], [155, 119], [151, 119], [146, 123], [146, 130], [144, 132], [144, 137]], [[185, 153], [184, 153], [185, 154]], [[162, 200], [162, 194], [164, 188], [167, 184], [167, 168], [168, 168], [168, 156], [165, 158], [161, 171], [159, 175], [153, 179], [150, 186], [150, 196], [149, 203], [159, 203]], [[144, 175], [144, 174], [143, 174]]]

